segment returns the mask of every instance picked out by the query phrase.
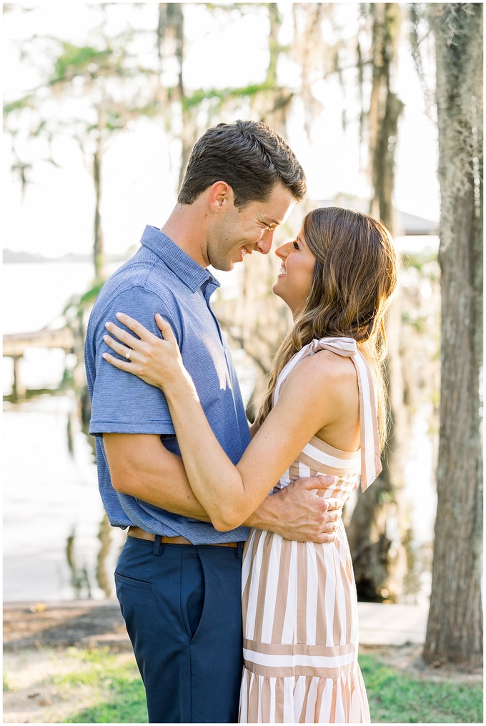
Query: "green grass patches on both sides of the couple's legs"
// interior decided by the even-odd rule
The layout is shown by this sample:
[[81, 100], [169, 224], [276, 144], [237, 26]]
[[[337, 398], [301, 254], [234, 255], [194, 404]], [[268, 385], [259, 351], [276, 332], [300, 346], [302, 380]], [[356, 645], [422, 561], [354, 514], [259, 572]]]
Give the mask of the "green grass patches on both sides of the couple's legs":
[[[97, 689], [97, 703], [66, 723], [147, 723], [145, 693], [133, 661], [120, 664], [107, 650], [70, 653], [80, 668], [54, 679], [57, 685]], [[373, 723], [482, 723], [480, 682], [432, 682], [386, 666], [375, 655], [360, 656]]]

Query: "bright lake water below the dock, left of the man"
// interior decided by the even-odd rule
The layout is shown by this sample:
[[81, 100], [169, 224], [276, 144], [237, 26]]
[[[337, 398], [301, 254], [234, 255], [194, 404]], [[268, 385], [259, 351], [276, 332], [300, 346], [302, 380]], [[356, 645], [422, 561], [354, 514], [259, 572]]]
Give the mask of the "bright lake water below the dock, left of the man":
[[4, 600], [113, 594], [124, 535], [105, 520], [75, 410], [73, 396], [42, 396], [4, 411]]

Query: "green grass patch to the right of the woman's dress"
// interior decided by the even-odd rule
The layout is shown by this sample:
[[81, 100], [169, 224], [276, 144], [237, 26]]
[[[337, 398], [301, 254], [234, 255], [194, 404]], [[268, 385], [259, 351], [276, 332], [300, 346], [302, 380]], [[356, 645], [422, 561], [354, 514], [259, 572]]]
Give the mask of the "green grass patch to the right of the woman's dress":
[[373, 723], [482, 723], [482, 684], [415, 680], [360, 656]]

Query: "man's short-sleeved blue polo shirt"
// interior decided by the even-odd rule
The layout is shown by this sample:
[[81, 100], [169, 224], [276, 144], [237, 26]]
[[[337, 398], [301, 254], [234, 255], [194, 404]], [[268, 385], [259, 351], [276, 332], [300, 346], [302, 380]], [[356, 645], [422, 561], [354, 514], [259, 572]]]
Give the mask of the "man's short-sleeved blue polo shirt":
[[182, 534], [193, 544], [244, 540], [246, 527], [219, 532], [211, 523], [119, 494], [111, 484], [103, 433], [158, 433], [163, 445], [180, 455], [162, 391], [102, 358], [105, 351], [113, 353], [103, 335], [105, 322], [117, 322], [117, 312], [129, 314], [156, 335], [160, 331], [154, 316], [160, 313], [174, 331], [214, 435], [234, 464], [250, 441], [230, 349], [209, 305], [219, 282], [155, 227], [146, 227], [141, 241], [137, 254], [103, 285], [86, 333], [85, 364], [92, 399], [89, 433], [96, 437], [103, 505], [110, 524], [123, 529], [134, 525], [167, 537]]

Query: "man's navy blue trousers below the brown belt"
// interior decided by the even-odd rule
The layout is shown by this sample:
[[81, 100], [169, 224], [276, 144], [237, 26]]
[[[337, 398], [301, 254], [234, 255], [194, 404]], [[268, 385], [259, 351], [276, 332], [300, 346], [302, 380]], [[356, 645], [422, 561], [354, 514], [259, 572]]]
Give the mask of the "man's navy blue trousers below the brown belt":
[[150, 723], [238, 722], [241, 553], [126, 538], [116, 594]]

